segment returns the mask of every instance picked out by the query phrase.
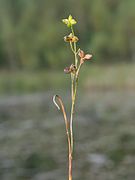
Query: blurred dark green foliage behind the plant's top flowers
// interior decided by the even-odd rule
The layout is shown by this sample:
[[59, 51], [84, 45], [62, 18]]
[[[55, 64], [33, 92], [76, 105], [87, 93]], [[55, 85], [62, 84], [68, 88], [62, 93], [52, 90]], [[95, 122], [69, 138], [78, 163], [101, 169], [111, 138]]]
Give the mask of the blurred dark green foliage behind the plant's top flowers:
[[71, 57], [58, 22], [69, 13], [78, 18], [81, 46], [96, 53], [97, 62], [134, 61], [134, 7], [134, 0], [0, 0], [0, 66], [63, 67]]

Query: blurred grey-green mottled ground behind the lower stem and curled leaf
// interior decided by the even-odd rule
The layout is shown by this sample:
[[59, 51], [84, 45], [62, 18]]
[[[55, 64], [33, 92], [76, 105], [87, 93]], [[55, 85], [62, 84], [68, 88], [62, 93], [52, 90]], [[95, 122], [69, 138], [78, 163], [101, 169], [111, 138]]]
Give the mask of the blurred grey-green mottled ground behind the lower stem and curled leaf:
[[[51, 98], [48, 92], [1, 98], [1, 180], [67, 179], [64, 121]], [[85, 92], [76, 110], [74, 179], [133, 180], [135, 93]]]

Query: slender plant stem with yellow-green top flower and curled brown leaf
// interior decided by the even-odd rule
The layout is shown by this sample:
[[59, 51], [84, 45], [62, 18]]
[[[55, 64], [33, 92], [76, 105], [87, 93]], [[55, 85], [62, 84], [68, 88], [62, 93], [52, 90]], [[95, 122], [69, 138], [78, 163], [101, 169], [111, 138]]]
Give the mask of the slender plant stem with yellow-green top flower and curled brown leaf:
[[[78, 80], [80, 69], [85, 61], [89, 61], [92, 58], [91, 54], [85, 54], [83, 50], [77, 48], [77, 42], [79, 38], [75, 35], [73, 26], [77, 23], [75, 19], [69, 15], [68, 19], [63, 19], [62, 22], [66, 24], [66, 26], [70, 29], [70, 34], [64, 37], [64, 41], [69, 43], [71, 51], [74, 55], [73, 63], [64, 69], [66, 74], [69, 74], [71, 77], [71, 112], [70, 118], [67, 118], [67, 114], [65, 111], [65, 106], [63, 101], [59, 95], [54, 95], [53, 102], [63, 113], [63, 117], [65, 120], [67, 140], [68, 140], [68, 158], [69, 158], [69, 180], [72, 180], [72, 155], [73, 155], [73, 146], [74, 146], [74, 136], [73, 136], [73, 117], [74, 117], [74, 108], [75, 108], [75, 100], [77, 94]], [[59, 105], [56, 103], [56, 100], [59, 102]]]

